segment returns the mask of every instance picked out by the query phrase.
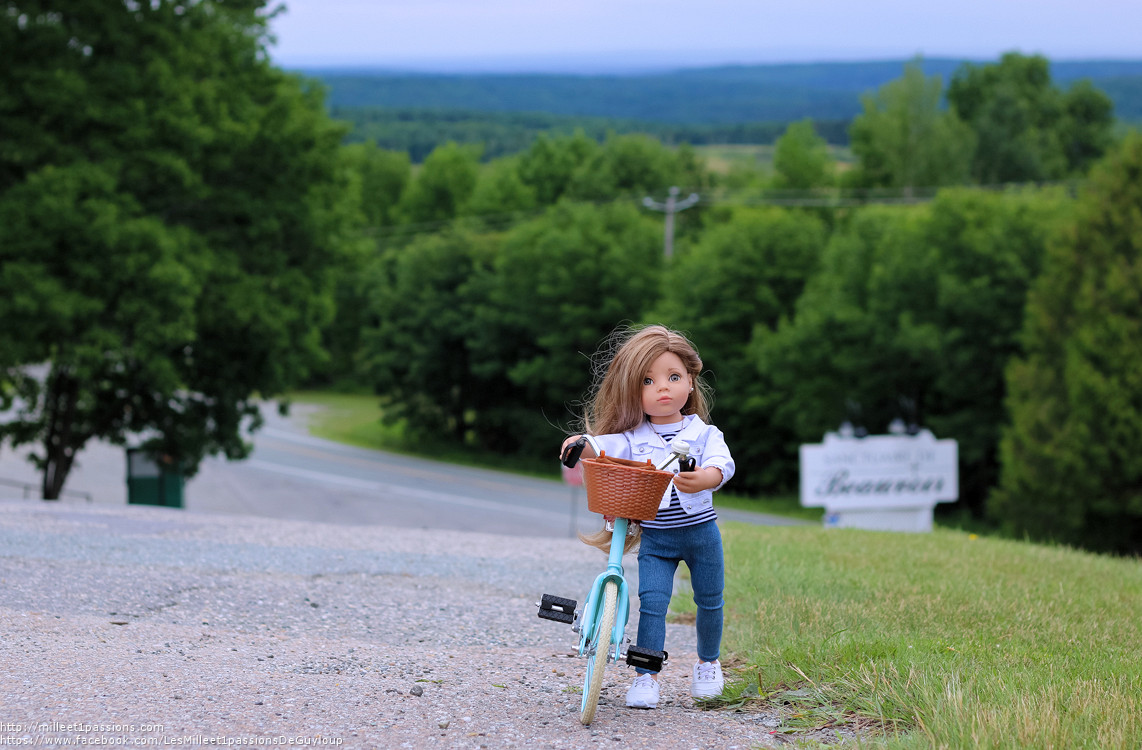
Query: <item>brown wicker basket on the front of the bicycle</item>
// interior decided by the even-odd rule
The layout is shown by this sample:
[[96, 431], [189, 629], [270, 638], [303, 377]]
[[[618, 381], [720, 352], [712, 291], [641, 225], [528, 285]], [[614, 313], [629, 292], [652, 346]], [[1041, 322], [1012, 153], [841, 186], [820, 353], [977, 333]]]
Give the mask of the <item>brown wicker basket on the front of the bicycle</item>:
[[601, 457], [582, 459], [587, 508], [617, 518], [650, 521], [658, 515], [670, 471], [646, 468], [645, 463]]

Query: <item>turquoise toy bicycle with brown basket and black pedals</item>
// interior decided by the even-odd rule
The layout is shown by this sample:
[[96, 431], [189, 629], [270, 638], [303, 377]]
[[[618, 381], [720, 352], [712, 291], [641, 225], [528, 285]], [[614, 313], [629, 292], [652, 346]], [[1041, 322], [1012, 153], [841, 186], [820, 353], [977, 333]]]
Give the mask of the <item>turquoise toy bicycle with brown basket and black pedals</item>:
[[[585, 445], [586, 439], [581, 437], [569, 445], [562, 455], [563, 465], [574, 468]], [[614, 516], [613, 526], [611, 522], [606, 526], [612, 532], [606, 570], [595, 578], [582, 610], [576, 608], [574, 599], [550, 594], [544, 594], [536, 603], [540, 618], [570, 624], [572, 632], [579, 634], [579, 655], [587, 658], [579, 707], [579, 721], [584, 725], [595, 719], [606, 663], [612, 659], [614, 663], [619, 662], [624, 645], [628, 646], [625, 658], [628, 667], [661, 671], [669, 658], [665, 651], [628, 645], [626, 629], [630, 595], [624, 575], [622, 555], [630, 521], [650, 521], [658, 515], [659, 501], [674, 478], [674, 474], [666, 469], [677, 460], [682, 470], [693, 470], [690, 445], [685, 441], [675, 441], [670, 447], [670, 457], [657, 467], [650, 461], [642, 465], [637, 461], [606, 460], [603, 455], [582, 459], [587, 508], [604, 516]]]

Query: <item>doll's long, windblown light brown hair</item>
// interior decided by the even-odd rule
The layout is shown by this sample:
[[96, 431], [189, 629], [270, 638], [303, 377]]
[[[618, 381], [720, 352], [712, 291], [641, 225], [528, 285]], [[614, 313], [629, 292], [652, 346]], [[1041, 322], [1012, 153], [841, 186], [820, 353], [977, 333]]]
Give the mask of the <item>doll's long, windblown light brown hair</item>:
[[[642, 425], [646, 420], [642, 408], [643, 378], [654, 360], [668, 352], [682, 360], [694, 385], [682, 406], [682, 414], [698, 414], [703, 421], [709, 421], [711, 397], [708, 386], [700, 378], [702, 360], [690, 339], [664, 325], [622, 326], [616, 329], [592, 357], [594, 382], [584, 409], [581, 432], [613, 435]], [[638, 546], [640, 532], [627, 537], [626, 551]], [[603, 551], [611, 548], [611, 532], [605, 530], [579, 534], [579, 539]]]

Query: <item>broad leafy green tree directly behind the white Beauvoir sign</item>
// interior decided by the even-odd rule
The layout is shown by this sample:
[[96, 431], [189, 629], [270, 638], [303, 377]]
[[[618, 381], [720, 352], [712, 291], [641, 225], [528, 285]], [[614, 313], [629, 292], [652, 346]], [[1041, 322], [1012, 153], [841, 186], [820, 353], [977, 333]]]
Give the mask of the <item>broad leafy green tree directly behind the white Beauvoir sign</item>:
[[[982, 515], [997, 477], [1004, 370], [1044, 248], [1067, 213], [1055, 192], [944, 189], [924, 207], [867, 207], [834, 234], [796, 315], [762, 331], [773, 422], [793, 445], [844, 420], [893, 419], [959, 443], [960, 499]], [[793, 476], [791, 450], [775, 461]]]

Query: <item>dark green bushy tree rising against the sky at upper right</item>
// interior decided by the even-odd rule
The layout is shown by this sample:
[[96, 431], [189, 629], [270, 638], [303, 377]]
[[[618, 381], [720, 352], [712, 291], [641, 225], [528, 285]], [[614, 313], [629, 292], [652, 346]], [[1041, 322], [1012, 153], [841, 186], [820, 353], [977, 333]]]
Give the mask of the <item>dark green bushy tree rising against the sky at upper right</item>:
[[948, 86], [948, 103], [975, 132], [972, 177], [983, 185], [1079, 174], [1109, 145], [1110, 99], [1088, 82], [1064, 96], [1040, 55], [964, 64]]

